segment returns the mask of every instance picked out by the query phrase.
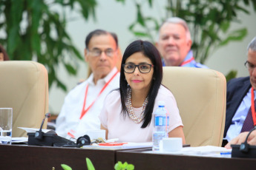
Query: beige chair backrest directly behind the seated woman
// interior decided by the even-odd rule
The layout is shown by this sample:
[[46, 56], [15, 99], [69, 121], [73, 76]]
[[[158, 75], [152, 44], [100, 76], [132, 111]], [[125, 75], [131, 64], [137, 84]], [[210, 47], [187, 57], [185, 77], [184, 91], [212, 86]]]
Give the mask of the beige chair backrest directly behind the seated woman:
[[163, 67], [163, 85], [173, 93], [186, 143], [221, 146], [226, 118], [226, 78], [213, 69]]

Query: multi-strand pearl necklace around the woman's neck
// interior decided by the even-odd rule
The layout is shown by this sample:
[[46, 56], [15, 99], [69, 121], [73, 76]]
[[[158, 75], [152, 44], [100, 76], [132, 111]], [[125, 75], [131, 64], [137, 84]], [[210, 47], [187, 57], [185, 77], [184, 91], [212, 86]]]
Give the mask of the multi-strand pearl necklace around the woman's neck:
[[131, 120], [134, 121], [134, 123], [140, 123], [140, 122], [142, 121], [143, 113], [145, 112], [145, 106], [147, 105], [147, 103], [148, 103], [148, 96], [147, 96], [147, 98], [145, 98], [145, 101], [144, 101], [144, 103], [142, 104], [142, 112], [141, 112], [140, 115], [137, 117], [137, 116], [134, 114], [134, 109], [133, 109], [132, 106], [131, 106], [131, 88], [128, 88], [125, 106], [126, 106], [127, 109], [128, 109], [128, 115], [129, 115], [129, 117], [131, 118]]

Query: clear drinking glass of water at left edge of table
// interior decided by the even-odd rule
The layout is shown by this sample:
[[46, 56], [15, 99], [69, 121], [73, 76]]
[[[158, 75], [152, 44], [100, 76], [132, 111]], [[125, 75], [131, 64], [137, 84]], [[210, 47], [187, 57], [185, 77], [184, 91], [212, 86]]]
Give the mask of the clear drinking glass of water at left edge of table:
[[0, 108], [0, 144], [12, 143], [13, 108]]

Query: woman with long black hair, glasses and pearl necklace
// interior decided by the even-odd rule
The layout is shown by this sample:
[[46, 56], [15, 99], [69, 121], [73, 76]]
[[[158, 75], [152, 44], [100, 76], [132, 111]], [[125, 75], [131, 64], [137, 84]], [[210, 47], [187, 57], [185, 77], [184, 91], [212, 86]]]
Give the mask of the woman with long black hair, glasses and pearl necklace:
[[106, 98], [99, 119], [106, 138], [126, 142], [151, 142], [153, 113], [158, 101], [170, 114], [168, 137], [182, 137], [183, 123], [174, 95], [161, 85], [163, 66], [160, 53], [148, 41], [134, 41], [122, 57], [119, 89]]

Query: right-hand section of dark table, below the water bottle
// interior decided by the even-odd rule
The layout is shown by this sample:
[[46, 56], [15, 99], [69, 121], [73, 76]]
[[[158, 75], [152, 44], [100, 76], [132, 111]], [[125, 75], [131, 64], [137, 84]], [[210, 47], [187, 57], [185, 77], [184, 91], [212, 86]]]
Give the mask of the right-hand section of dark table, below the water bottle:
[[[116, 152], [116, 160], [128, 162], [135, 169], [255, 169], [256, 159], [231, 157], [203, 157], [147, 153], [151, 149]], [[146, 152], [146, 153], [145, 153]]]

